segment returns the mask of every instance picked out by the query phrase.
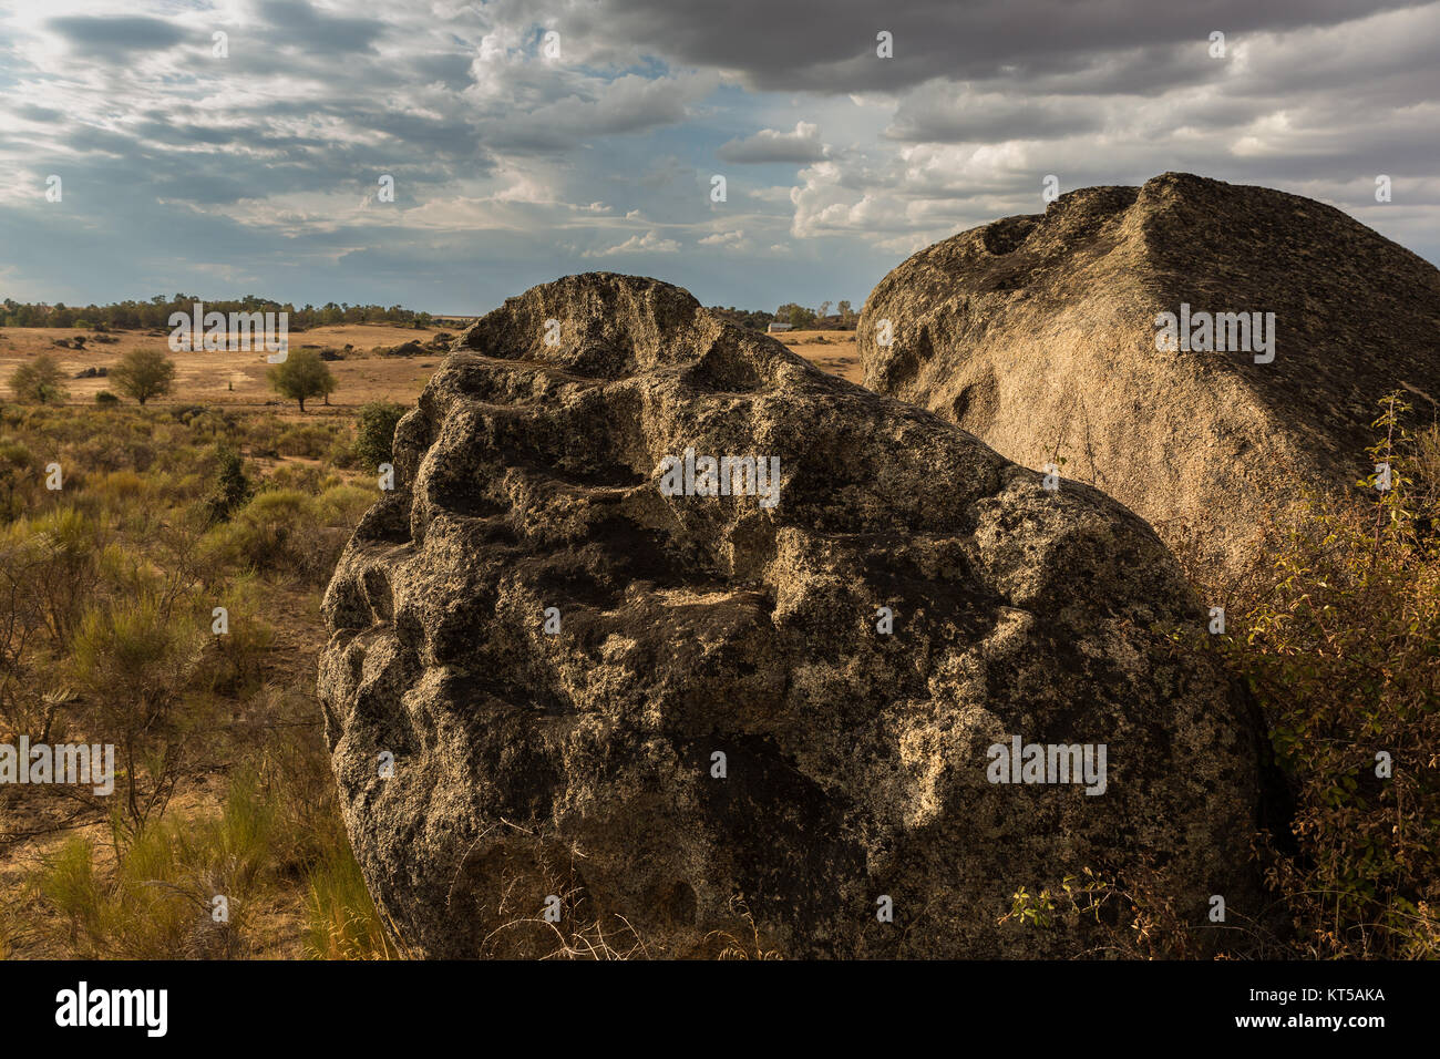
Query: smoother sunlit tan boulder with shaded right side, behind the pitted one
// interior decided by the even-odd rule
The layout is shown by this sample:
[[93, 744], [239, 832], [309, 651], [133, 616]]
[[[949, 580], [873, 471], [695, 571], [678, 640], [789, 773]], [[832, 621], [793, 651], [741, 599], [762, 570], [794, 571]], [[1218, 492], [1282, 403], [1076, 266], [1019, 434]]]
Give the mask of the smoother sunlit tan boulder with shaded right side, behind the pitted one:
[[[1182, 303], [1274, 313], [1274, 360], [1159, 352], [1156, 316]], [[1296, 481], [1344, 488], [1374, 470], [1384, 395], [1431, 418], [1437, 336], [1427, 261], [1310, 199], [1166, 173], [920, 251], [871, 292], [858, 347], [867, 386], [1027, 467], [1058, 454], [1172, 546], [1200, 535], [1234, 565]]]

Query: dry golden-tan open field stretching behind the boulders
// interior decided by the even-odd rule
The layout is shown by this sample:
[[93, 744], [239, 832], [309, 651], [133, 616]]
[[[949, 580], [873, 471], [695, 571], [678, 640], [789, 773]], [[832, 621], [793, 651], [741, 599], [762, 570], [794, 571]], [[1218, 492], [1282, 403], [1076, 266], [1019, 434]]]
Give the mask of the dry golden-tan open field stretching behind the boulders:
[[[354, 346], [357, 353], [374, 346], [399, 346], [405, 341], [431, 341], [438, 331], [423, 331], [410, 327], [386, 327], [372, 324], [350, 324], [341, 327], [315, 327], [310, 331], [294, 331], [289, 336], [291, 349], [302, 346], [333, 346], [344, 349]], [[454, 331], [451, 331], [454, 334]], [[55, 339], [86, 337], [86, 349], [59, 349]], [[37, 353], [50, 353], [59, 360], [68, 382], [69, 403], [89, 405], [102, 389], [114, 386], [108, 379], [75, 379], [86, 367], [114, 367], [120, 359], [134, 349], [168, 350], [167, 337], [145, 331], [115, 331], [115, 343], [96, 343], [94, 334], [55, 327], [7, 327], [0, 329], [0, 385], [10, 373]], [[854, 331], [788, 331], [776, 336], [791, 350], [805, 357], [816, 367], [858, 383], [860, 360], [855, 356]], [[265, 380], [269, 365], [264, 352], [197, 352], [171, 353], [179, 369], [177, 386], [157, 405], [207, 403], [262, 406], [279, 405], [279, 396]], [[442, 353], [426, 353], [416, 357], [356, 357], [334, 360], [330, 370], [340, 383], [330, 395], [336, 408], [353, 409], [369, 401], [395, 401], [413, 403], [444, 360]], [[6, 393], [9, 396], [9, 393]], [[320, 402], [311, 402], [318, 408]]]

